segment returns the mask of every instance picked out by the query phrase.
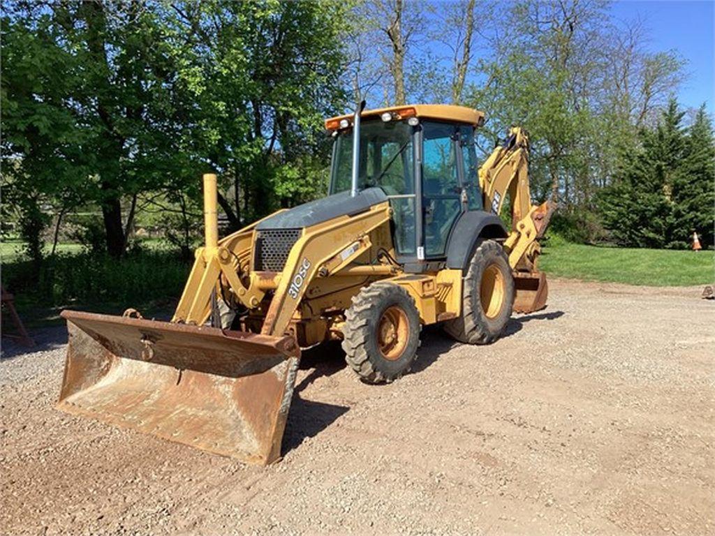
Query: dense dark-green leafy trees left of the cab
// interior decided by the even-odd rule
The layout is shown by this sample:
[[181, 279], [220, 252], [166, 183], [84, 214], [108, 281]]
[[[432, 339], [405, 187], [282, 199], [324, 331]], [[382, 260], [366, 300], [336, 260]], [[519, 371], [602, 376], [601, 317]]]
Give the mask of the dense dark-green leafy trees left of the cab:
[[345, 100], [344, 11], [337, 1], [9, 4], [3, 157], [14, 188], [99, 207], [115, 257], [142, 194], [188, 190], [210, 169], [233, 187], [220, 202], [234, 228], [315, 197], [322, 119]]

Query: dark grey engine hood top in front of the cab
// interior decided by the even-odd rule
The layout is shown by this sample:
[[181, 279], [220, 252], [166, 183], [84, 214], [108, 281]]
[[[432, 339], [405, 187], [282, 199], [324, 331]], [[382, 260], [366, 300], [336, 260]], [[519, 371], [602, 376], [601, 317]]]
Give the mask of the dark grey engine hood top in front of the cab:
[[350, 196], [350, 192], [340, 192], [332, 194], [322, 199], [298, 205], [292, 209], [279, 212], [264, 219], [257, 224], [256, 229], [265, 231], [268, 229], [302, 229], [310, 227], [338, 216], [352, 216], [365, 212], [373, 205], [383, 203], [388, 200], [380, 188], [368, 188], [358, 192], [355, 197]]

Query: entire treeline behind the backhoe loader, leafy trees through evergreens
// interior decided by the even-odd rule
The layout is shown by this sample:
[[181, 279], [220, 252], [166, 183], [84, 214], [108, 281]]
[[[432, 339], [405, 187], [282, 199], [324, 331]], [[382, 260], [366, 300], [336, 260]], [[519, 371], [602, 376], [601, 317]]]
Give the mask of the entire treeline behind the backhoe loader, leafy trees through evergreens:
[[325, 194], [322, 119], [362, 98], [482, 109], [484, 154], [526, 127], [570, 239], [712, 244], [710, 118], [601, 1], [16, 1], [2, 32], [3, 219], [36, 258], [88, 207], [114, 256], [152, 217], [188, 252], [209, 170], [232, 228]]

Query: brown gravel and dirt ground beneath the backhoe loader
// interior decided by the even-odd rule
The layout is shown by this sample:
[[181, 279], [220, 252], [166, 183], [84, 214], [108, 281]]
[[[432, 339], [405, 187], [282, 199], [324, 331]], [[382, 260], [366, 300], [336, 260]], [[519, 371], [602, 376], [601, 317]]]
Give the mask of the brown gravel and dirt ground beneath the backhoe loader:
[[552, 282], [489, 347], [425, 329], [412, 374], [301, 364], [282, 462], [53, 409], [64, 330], [4, 344], [4, 535], [715, 533], [715, 302]]

